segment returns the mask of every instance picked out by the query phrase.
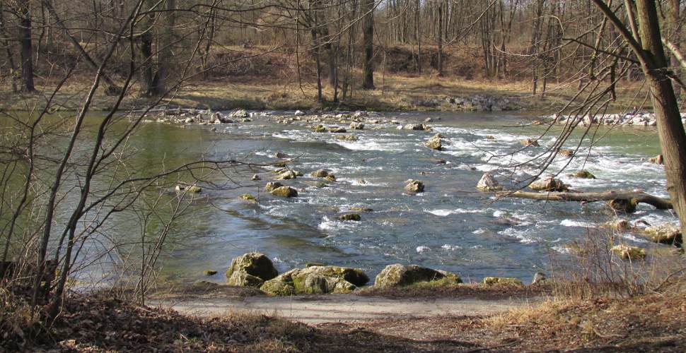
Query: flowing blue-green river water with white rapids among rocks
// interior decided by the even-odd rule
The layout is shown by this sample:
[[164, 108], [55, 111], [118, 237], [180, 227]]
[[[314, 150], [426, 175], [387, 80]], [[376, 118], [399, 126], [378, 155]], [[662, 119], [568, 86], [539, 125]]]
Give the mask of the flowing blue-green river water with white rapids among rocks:
[[[185, 128], [149, 123], [131, 141], [134, 159], [152, 169], [182, 162], [236, 157], [246, 162], [275, 162], [276, 152], [297, 157], [293, 169], [305, 176], [282, 181], [298, 189], [297, 198], [278, 198], [264, 191], [275, 167], [254, 167], [229, 174], [231, 189], [204, 187], [202, 202], [180, 220], [170, 234], [164, 256], [167, 280], [223, 282], [231, 259], [248, 251], [272, 258], [279, 271], [320, 262], [362, 268], [372, 278], [392, 263], [416, 263], [459, 273], [465, 279], [504, 275], [529, 280], [545, 270], [551, 258], [565, 256], [566, 244], [594, 232], [607, 221], [603, 203], [532, 201], [516, 198], [496, 200], [491, 193], [475, 190], [486, 171], [496, 179], [525, 179], [537, 174], [535, 165], [513, 171], [554, 143], [557, 131], [542, 138], [540, 148], [525, 148], [523, 138], [536, 138], [543, 126], [521, 126], [523, 117], [504, 114], [398, 113], [380, 119], [418, 123], [434, 119], [434, 132], [397, 129], [397, 124], [367, 124], [349, 131], [359, 140], [337, 140], [335, 133], [315, 133], [306, 124], [277, 124], [258, 117], [237, 125]], [[94, 118], [95, 119], [95, 118]], [[218, 130], [212, 131], [215, 127]], [[446, 150], [434, 151], [423, 143], [434, 133], [446, 137]], [[601, 127], [593, 148], [575, 157], [568, 170], [581, 168], [597, 179], [560, 178], [571, 189], [605, 191], [642, 189], [666, 196], [663, 167], [642, 161], [660, 151], [653, 128]], [[493, 138], [487, 138], [492, 136]], [[579, 143], [576, 133], [566, 145]], [[588, 146], [589, 140], [582, 143]], [[436, 159], [446, 161], [440, 164]], [[568, 162], [557, 157], [551, 170]], [[327, 187], [313, 186], [315, 169], [328, 169], [337, 181]], [[510, 172], [514, 173], [510, 173]], [[258, 174], [262, 181], [250, 181]], [[403, 191], [405, 180], [420, 179], [426, 190], [417, 195]], [[257, 205], [240, 201], [242, 193], [259, 198]], [[343, 222], [337, 216], [353, 206], [373, 209], [361, 213], [360, 222]], [[669, 211], [639, 205], [629, 220], [650, 224], [674, 220]], [[107, 227], [110, 237], [136, 239], [135, 222]], [[653, 244], [632, 234], [627, 242]], [[219, 270], [205, 277], [205, 269]]]

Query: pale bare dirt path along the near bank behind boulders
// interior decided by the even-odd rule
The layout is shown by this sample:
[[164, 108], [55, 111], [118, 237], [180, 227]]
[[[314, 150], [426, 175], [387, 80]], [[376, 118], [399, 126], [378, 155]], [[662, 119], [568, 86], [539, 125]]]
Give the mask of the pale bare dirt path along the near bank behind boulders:
[[533, 304], [536, 299], [392, 299], [329, 294], [311, 297], [245, 297], [242, 299], [172, 299], [150, 301], [194, 316], [231, 312], [264, 313], [308, 324], [436, 316], [481, 316]]

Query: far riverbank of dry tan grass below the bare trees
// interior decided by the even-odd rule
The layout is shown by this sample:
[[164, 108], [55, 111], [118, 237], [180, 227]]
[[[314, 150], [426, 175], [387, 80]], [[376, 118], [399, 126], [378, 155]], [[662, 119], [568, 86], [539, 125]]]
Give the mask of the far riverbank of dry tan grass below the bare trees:
[[[298, 84], [292, 80], [264, 80], [254, 76], [237, 76], [226, 80], [190, 82], [173, 90], [163, 100], [141, 97], [134, 86], [124, 97], [119, 109], [146, 109], [147, 107], [180, 107], [182, 109], [272, 109], [295, 110], [329, 107], [342, 110], [372, 110], [377, 112], [453, 111], [541, 111], [555, 112], [576, 93], [572, 85], [550, 85], [545, 96], [531, 95], [528, 82], [501, 82], [492, 80], [465, 80], [464, 78], [412, 77], [386, 75], [376, 77], [376, 90], [354, 89], [344, 102], [331, 102], [332, 92], [324, 91], [325, 102], [317, 102], [315, 85]], [[52, 110], [75, 111], [90, 88], [90, 80], [67, 82], [52, 97]], [[43, 107], [57, 83], [43, 82], [39, 93], [21, 94], [0, 88], [0, 109], [4, 111], [31, 111]], [[623, 111], [639, 105], [634, 102], [638, 84], [625, 84], [618, 88], [619, 99], [610, 109]], [[117, 97], [105, 95], [100, 88], [93, 97], [92, 111], [107, 111], [114, 107]]]

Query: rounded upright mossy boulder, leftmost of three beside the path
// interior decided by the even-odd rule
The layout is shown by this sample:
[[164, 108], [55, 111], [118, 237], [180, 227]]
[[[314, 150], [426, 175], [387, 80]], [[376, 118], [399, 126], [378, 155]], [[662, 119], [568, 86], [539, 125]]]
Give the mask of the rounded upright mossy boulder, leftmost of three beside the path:
[[279, 272], [264, 253], [245, 253], [231, 261], [226, 270], [228, 285], [260, 287], [266, 280], [277, 277]]

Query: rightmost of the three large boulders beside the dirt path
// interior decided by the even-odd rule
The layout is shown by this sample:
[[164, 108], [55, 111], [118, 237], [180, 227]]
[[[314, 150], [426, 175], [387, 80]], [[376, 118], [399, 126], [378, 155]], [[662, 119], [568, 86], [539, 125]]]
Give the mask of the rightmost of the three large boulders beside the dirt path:
[[403, 287], [414, 285], [418, 282], [433, 282], [448, 278], [451, 282], [462, 283], [460, 276], [454, 273], [434, 270], [419, 265], [401, 265], [395, 263], [388, 265], [376, 276], [374, 286], [376, 287]]

